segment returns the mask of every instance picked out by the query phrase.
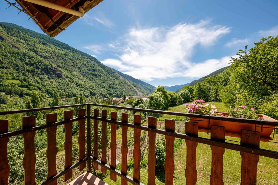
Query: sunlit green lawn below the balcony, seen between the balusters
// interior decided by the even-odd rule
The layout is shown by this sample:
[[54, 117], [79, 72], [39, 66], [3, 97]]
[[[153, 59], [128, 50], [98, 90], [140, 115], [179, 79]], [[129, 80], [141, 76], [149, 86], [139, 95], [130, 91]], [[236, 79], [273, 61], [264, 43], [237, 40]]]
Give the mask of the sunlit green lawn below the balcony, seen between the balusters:
[[[210, 135], [199, 132], [200, 137], [210, 138]], [[226, 137], [235, 141], [240, 141], [239, 138]], [[275, 137], [275, 141], [278, 140], [278, 135]], [[260, 142], [261, 148], [268, 150], [277, 150], [277, 144], [271, 142]], [[223, 181], [224, 184], [236, 185], [240, 184], [241, 175], [241, 156], [240, 152], [234, 150], [225, 150], [223, 157]], [[174, 184], [185, 184], [185, 167], [186, 167], [186, 144], [185, 141], [181, 144], [179, 149], [174, 154], [175, 162], [175, 174]], [[209, 145], [198, 143], [196, 153], [196, 168], [197, 168], [197, 183], [201, 185], [209, 184], [209, 177], [211, 174], [211, 149]], [[117, 181], [114, 182], [110, 179], [110, 172], [107, 171], [107, 175], [104, 176], [103, 181], [109, 185], [120, 184], [120, 177], [117, 177]], [[133, 169], [128, 171], [129, 176], [133, 176]], [[147, 168], [140, 169], [141, 183], [148, 183], [148, 170]], [[156, 175], [156, 184], [165, 184], [165, 174], [158, 173]], [[267, 158], [260, 156], [260, 160], [257, 168], [257, 184], [277, 184], [278, 182], [278, 170], [277, 159]], [[131, 184], [131, 183], [129, 183]]]

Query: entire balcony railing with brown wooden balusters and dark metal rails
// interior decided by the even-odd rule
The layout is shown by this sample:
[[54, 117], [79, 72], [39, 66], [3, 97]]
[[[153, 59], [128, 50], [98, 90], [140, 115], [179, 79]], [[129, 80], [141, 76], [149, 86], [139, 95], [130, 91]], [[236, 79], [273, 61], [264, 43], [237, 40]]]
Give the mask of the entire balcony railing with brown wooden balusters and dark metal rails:
[[[211, 146], [212, 150], [212, 163], [211, 163], [211, 176], [210, 184], [224, 184], [223, 183], [223, 154], [225, 149], [240, 151], [242, 158], [241, 166], [241, 183], [242, 184], [256, 184], [257, 175], [257, 163], [259, 156], [265, 156], [269, 158], [278, 159], [278, 152], [272, 150], [265, 150], [259, 148], [260, 136], [259, 132], [253, 130], [242, 130], [241, 143], [234, 144], [225, 142], [225, 127], [211, 125], [211, 138], [198, 137], [198, 124], [195, 122], [185, 122], [185, 134], [175, 132], [175, 121], [165, 120], [165, 130], [158, 129], [156, 124], [156, 117], [148, 117], [148, 125], [141, 125], [141, 116], [134, 114], [133, 124], [128, 123], [128, 114], [121, 113], [121, 121], [117, 120], [117, 113], [111, 112], [111, 119], [107, 119], [107, 110], [101, 110], [101, 117], [99, 117], [99, 109], [93, 110], [91, 115], [91, 106], [107, 107], [114, 109], [126, 109], [133, 111], [160, 113], [184, 117], [195, 118], [208, 118], [213, 120], [224, 120], [234, 122], [244, 122], [248, 124], [258, 125], [271, 125], [278, 126], [276, 121], [260, 121], [251, 119], [241, 119], [232, 117], [217, 117], [198, 115], [190, 113], [177, 113], [150, 109], [137, 109], [128, 107], [119, 107], [113, 105], [100, 105], [100, 104], [79, 104], [79, 105], [66, 105], [57, 107], [37, 108], [37, 109], [25, 109], [25, 110], [13, 110], [0, 112], [0, 115], [14, 114], [14, 113], [26, 113], [34, 111], [43, 111], [50, 109], [72, 108], [77, 106], [86, 106], [86, 109], [79, 109], [78, 117], [73, 118], [73, 111], [67, 110], [64, 112], [64, 121], [57, 121], [57, 113], [50, 113], [46, 115], [46, 125], [36, 126], [35, 116], [23, 117], [22, 130], [13, 132], [8, 131], [8, 120], [0, 120], [0, 184], [8, 184], [8, 176], [10, 173], [10, 166], [8, 164], [8, 149], [7, 143], [9, 137], [16, 135], [22, 135], [24, 140], [24, 183], [26, 185], [36, 184], [35, 180], [35, 134], [37, 130], [46, 129], [47, 132], [47, 165], [48, 172], [46, 181], [44, 184], [57, 184], [57, 178], [64, 175], [65, 181], [70, 179], [73, 175], [72, 170], [75, 167], [79, 167], [79, 170], [83, 170], [87, 166], [87, 172], [91, 172], [91, 166], [98, 169], [101, 166], [101, 172], [106, 174], [107, 170], [111, 172], [110, 178], [116, 181], [116, 176], [121, 178], [121, 184], [127, 184], [127, 182], [133, 184], [142, 184], [140, 182], [140, 139], [141, 130], [148, 132], [149, 137], [149, 151], [148, 151], [148, 184], [155, 184], [155, 140], [156, 134], [165, 135], [166, 139], [166, 161], [165, 161], [165, 184], [173, 184], [173, 175], [175, 170], [174, 164], [174, 140], [175, 138], [182, 138], [186, 140], [187, 154], [186, 154], [186, 168], [185, 177], [186, 184], [196, 184], [197, 181], [197, 169], [196, 169], [196, 147], [198, 143], [204, 143]], [[94, 149], [93, 156], [91, 155], [91, 120], [94, 120]], [[79, 162], [72, 164], [72, 123], [78, 121], [79, 123]], [[85, 121], [87, 131], [85, 133]], [[101, 159], [98, 159], [98, 122], [102, 124], [102, 137], [101, 137]], [[111, 158], [110, 166], [107, 164], [107, 123], [111, 123]], [[64, 171], [57, 173], [56, 167], [56, 130], [58, 125], [65, 126], [65, 166]], [[116, 126], [122, 127], [122, 144], [121, 144], [121, 171], [116, 170]], [[134, 150], [133, 150], [133, 177], [127, 174], [127, 133], [128, 127], [134, 129]], [[86, 137], [87, 136], [87, 137]], [[85, 142], [85, 139], [87, 141]], [[85, 143], [87, 146], [85, 147]], [[93, 162], [93, 164], [91, 163]], [[87, 163], [87, 165], [86, 165]]]

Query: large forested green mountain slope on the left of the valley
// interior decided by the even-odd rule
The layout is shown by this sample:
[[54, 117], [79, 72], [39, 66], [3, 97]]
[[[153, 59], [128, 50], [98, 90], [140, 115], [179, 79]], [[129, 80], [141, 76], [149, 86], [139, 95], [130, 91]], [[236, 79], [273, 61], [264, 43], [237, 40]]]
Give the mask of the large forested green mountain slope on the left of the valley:
[[0, 23], [0, 91], [40, 91], [61, 97], [149, 94], [155, 87], [124, 75], [96, 58], [46, 35]]

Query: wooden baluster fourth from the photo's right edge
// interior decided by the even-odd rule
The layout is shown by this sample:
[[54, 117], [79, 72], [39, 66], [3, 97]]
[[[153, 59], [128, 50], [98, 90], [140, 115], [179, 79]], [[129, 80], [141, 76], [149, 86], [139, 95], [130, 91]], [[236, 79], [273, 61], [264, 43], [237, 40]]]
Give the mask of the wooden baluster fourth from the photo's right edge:
[[[165, 130], [167, 132], [175, 132], [175, 120], [165, 120]], [[172, 185], [174, 183], [174, 141], [175, 137], [165, 135], [166, 140], [166, 158], [165, 158], [165, 184]]]

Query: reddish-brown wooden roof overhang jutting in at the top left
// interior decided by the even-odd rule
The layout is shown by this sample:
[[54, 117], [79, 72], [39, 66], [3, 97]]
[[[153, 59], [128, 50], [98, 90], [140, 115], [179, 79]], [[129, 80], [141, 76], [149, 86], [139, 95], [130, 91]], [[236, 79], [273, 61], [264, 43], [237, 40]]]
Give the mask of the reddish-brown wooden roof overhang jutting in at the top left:
[[[91, 8], [98, 5], [103, 0], [45, 0], [57, 5], [73, 9], [84, 10], [85, 13]], [[59, 10], [54, 10], [35, 3], [24, 0], [16, 1], [19, 6], [36, 22], [36, 24], [50, 37], [55, 37], [61, 31], [65, 30], [71, 23], [79, 17], [73, 14], [65, 13]]]

